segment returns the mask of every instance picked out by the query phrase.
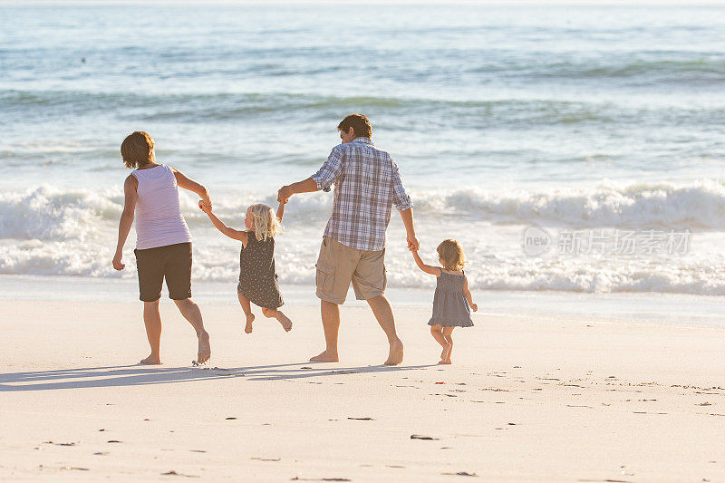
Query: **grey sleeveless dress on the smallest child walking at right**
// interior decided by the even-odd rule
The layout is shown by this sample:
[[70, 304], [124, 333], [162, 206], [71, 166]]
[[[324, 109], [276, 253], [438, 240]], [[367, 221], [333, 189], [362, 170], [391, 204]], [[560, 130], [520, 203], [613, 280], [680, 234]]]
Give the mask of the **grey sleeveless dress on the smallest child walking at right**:
[[473, 327], [470, 320], [469, 301], [463, 295], [466, 275], [452, 275], [440, 270], [433, 295], [433, 316], [429, 325], [441, 327]]

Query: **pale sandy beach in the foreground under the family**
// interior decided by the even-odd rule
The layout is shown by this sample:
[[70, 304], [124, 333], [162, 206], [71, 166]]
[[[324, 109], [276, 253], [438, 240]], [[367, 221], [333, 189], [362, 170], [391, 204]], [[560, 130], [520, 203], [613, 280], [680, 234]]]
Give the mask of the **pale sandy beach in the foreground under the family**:
[[159, 367], [138, 303], [3, 301], [0, 478], [210, 481], [721, 481], [725, 328], [474, 315], [440, 366], [429, 309], [396, 310], [405, 359], [343, 307], [284, 333], [202, 304], [207, 367], [168, 300]]

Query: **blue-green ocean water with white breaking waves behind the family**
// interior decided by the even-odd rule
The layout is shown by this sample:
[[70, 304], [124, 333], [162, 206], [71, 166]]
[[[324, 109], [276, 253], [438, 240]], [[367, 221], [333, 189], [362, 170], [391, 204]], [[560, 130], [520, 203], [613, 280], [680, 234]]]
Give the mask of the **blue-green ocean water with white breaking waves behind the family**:
[[[240, 227], [358, 111], [474, 290], [725, 295], [723, 32], [725, 6], [0, 5], [0, 275], [135, 277], [133, 130]], [[331, 198], [288, 205], [283, 285], [314, 282]], [[195, 280], [233, 287], [239, 246], [181, 201]], [[391, 287], [430, 288], [404, 238], [393, 214]]]

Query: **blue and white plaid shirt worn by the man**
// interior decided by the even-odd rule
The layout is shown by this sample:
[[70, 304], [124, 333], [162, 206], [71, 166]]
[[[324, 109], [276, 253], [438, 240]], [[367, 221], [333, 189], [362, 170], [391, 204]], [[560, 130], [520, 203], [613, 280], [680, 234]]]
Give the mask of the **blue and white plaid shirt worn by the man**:
[[358, 250], [382, 250], [392, 205], [400, 211], [413, 206], [398, 165], [369, 138], [335, 146], [312, 179], [324, 191], [334, 183], [333, 214], [324, 236]]

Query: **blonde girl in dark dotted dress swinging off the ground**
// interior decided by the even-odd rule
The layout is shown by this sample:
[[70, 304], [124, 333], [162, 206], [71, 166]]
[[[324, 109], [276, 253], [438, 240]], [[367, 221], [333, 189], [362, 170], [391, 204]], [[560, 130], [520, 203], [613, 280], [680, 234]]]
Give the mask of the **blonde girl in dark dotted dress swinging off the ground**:
[[242, 242], [237, 296], [247, 317], [244, 332], [252, 332], [255, 316], [251, 304], [262, 307], [262, 314], [277, 319], [286, 332], [291, 331], [292, 321], [279, 310], [285, 302], [279, 293], [275, 271], [275, 236], [282, 233], [280, 222], [285, 214], [285, 204], [279, 204], [276, 215], [274, 208], [263, 203], [250, 206], [244, 219], [244, 231], [227, 227], [207, 205], [199, 203], [198, 208], [208, 215], [220, 232]]

